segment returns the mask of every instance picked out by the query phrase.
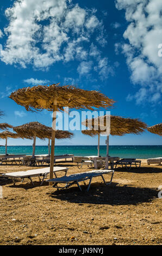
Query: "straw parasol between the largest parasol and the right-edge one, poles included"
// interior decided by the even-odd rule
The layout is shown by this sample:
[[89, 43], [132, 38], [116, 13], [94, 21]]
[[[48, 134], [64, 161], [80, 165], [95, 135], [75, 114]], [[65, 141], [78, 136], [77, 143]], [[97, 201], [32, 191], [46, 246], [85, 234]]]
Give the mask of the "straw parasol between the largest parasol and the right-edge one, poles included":
[[[83, 125], [86, 127], [89, 127], [89, 124], [91, 124], [91, 130], [84, 130], [82, 131], [83, 134], [89, 135], [91, 137], [94, 137], [95, 135], [98, 135], [98, 156], [99, 156], [99, 136], [101, 133], [105, 133], [107, 130], [107, 117], [108, 115], [104, 115], [99, 118], [92, 118], [92, 119], [86, 119], [82, 122]], [[95, 125], [98, 124], [98, 130], [95, 130]], [[103, 129], [103, 127], [105, 129]], [[101, 129], [102, 128], [102, 129]], [[147, 125], [140, 121], [139, 119], [132, 119], [132, 118], [123, 118], [116, 115], [110, 115], [110, 135], [113, 136], [122, 136], [128, 133], [133, 134], [140, 134], [147, 128]], [[107, 135], [107, 166], [108, 168], [108, 156], [109, 156], [109, 135]]]

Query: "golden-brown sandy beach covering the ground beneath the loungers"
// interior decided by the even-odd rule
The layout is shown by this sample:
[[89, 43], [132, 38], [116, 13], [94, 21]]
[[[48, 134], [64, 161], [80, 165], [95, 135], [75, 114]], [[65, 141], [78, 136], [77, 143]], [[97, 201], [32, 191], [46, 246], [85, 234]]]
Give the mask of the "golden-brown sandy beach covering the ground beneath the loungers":
[[[67, 166], [67, 175], [91, 170], [76, 163], [57, 166]], [[1, 166], [0, 173], [37, 168]], [[76, 185], [57, 191], [47, 182], [39, 186], [38, 178], [35, 187], [27, 179], [13, 185], [1, 178], [0, 244], [160, 245], [161, 170], [142, 160], [140, 169], [117, 168], [110, 186], [95, 178], [89, 192]]]

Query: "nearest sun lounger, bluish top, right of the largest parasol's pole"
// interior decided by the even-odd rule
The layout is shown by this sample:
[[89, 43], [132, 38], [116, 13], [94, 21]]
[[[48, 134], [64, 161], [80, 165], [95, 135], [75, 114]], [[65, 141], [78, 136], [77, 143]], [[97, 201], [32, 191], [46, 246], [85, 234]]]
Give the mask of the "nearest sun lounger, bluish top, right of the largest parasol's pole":
[[[104, 174], [111, 174], [110, 182], [105, 182], [104, 177], [103, 177]], [[114, 175], [114, 170], [91, 170], [90, 172], [77, 173], [77, 174], [72, 174], [70, 176], [63, 176], [61, 178], [50, 179], [50, 180], [47, 180], [47, 182], [54, 182], [53, 187], [57, 187], [58, 190], [59, 190], [59, 188], [61, 188], [61, 189], [68, 188], [73, 184], [77, 184], [80, 191], [82, 191], [82, 188], [80, 187], [79, 182], [85, 181], [85, 180], [90, 180], [88, 188], [87, 188], [87, 191], [89, 191], [92, 178], [101, 176], [104, 181], [104, 184], [109, 185], [109, 184], [111, 184], [111, 182], [113, 180], [113, 175]], [[64, 187], [59, 187], [58, 183], [66, 184], [66, 185]]]

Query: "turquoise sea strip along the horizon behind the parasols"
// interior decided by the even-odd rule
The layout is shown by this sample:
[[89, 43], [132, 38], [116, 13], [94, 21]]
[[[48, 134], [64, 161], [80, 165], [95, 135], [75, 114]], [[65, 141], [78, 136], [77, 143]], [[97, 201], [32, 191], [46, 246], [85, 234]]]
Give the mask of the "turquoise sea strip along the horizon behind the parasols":
[[[5, 147], [0, 147], [0, 155], [5, 154]], [[8, 154], [32, 154], [32, 146], [8, 146]], [[47, 146], [36, 146], [35, 155], [48, 154]], [[74, 154], [75, 156], [89, 156], [97, 155], [96, 145], [84, 145], [84, 146], [55, 146], [55, 155], [61, 154]], [[100, 146], [100, 155], [105, 156], [106, 146]], [[162, 157], [162, 145], [150, 145], [150, 146], [109, 146], [110, 156], [119, 156], [121, 158], [136, 158], [147, 159], [151, 157]]]

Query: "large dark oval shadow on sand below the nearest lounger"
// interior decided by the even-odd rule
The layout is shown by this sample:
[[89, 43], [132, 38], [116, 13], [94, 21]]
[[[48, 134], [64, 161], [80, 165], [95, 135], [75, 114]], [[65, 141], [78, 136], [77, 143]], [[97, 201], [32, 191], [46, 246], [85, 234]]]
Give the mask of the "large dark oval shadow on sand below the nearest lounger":
[[153, 188], [119, 186], [114, 182], [110, 186], [96, 182], [91, 185], [89, 192], [86, 192], [86, 186], [81, 187], [83, 192], [78, 187], [70, 187], [67, 190], [55, 191], [49, 197], [76, 204], [105, 205], [136, 205], [151, 202], [158, 197], [158, 191]]

